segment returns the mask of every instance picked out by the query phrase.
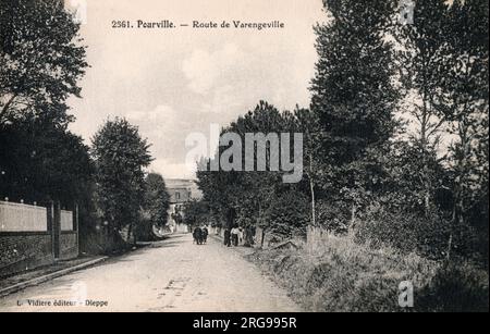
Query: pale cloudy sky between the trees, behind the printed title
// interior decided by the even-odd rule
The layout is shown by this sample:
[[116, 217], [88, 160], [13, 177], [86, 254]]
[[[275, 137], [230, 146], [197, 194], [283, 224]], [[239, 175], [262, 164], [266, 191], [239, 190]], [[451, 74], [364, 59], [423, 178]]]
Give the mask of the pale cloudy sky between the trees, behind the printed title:
[[[83, 0], [68, 0], [83, 2]], [[125, 116], [152, 144], [150, 170], [192, 177], [185, 137], [209, 135], [261, 99], [280, 109], [309, 103], [321, 0], [87, 0], [83, 99], [72, 131], [87, 144], [108, 119]], [[112, 21], [169, 20], [174, 29], [114, 29]], [[193, 21], [283, 22], [283, 29], [194, 29]]]

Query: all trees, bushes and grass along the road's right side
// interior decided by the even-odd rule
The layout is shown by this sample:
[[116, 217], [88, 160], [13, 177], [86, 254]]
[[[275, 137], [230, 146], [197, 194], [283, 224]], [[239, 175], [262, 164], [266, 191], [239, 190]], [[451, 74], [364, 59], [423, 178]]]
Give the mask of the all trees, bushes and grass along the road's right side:
[[409, 280], [415, 310], [488, 310], [487, 1], [417, 0], [411, 24], [399, 1], [323, 3], [309, 110], [260, 102], [222, 129], [303, 133], [303, 181], [200, 171], [210, 214], [283, 239], [307, 225], [340, 237], [313, 262], [256, 256], [308, 309], [400, 310]]

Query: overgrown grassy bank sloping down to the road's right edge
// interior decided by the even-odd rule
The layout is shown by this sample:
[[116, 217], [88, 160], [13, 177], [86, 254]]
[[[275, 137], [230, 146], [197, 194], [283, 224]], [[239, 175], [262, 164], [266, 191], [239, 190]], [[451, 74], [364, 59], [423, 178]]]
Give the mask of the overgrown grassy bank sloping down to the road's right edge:
[[[393, 249], [373, 250], [352, 238], [323, 249], [261, 250], [249, 256], [308, 311], [488, 311], [488, 273], [458, 262], [443, 264]], [[399, 286], [414, 286], [414, 308], [399, 306]]]

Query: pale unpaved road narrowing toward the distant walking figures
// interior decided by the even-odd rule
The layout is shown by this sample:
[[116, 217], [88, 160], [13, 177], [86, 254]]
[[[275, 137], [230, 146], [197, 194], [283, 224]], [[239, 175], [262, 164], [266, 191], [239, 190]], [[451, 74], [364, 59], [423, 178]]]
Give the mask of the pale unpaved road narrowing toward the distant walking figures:
[[[86, 300], [95, 304], [86, 306]], [[284, 290], [237, 252], [212, 238], [208, 245], [193, 245], [187, 234], [0, 298], [0, 312], [3, 311], [301, 310]]]

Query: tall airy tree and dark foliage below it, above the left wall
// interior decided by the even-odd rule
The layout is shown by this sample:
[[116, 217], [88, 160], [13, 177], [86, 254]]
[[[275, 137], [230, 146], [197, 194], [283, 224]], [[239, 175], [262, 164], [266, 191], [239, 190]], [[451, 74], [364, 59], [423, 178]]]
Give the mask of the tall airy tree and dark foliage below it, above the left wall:
[[88, 66], [78, 28], [62, 1], [0, 1], [2, 197], [69, 203], [86, 191], [88, 150], [66, 131]]

